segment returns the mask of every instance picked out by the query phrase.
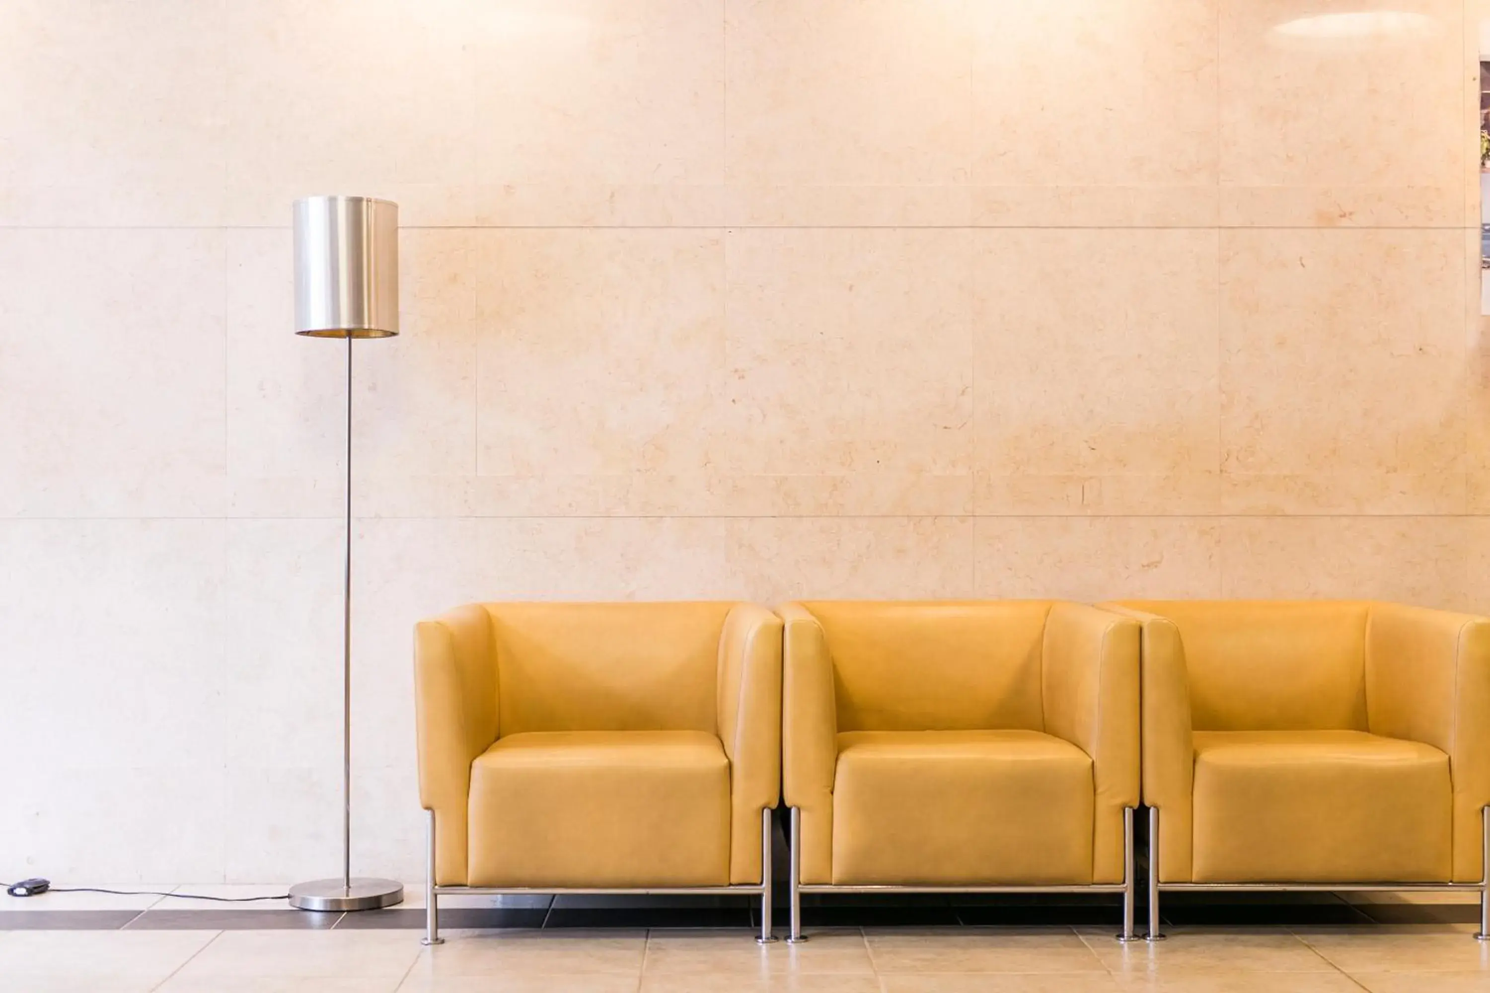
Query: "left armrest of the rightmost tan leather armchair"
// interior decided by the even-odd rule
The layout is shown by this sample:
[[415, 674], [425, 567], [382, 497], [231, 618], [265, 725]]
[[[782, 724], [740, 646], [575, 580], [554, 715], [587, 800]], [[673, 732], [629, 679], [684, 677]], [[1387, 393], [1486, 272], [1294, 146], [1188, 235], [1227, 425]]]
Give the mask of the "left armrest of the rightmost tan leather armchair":
[[1159, 810], [1159, 881], [1191, 881], [1195, 728], [1185, 645], [1174, 621], [1116, 603], [1104, 610], [1140, 625], [1143, 802]]

